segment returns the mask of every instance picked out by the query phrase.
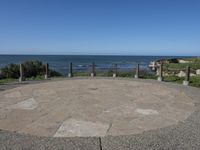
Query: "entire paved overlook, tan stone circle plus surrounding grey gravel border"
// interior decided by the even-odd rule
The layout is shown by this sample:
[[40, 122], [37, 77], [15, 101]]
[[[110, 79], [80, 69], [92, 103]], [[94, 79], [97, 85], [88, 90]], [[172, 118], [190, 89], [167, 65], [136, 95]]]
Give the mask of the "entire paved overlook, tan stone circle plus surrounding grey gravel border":
[[81, 77], [0, 86], [3, 149], [199, 147], [199, 89]]

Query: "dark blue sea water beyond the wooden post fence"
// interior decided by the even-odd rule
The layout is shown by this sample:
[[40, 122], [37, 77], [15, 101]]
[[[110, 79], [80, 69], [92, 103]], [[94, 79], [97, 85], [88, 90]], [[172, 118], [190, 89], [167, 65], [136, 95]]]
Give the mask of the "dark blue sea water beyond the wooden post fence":
[[27, 60], [40, 60], [49, 63], [51, 69], [64, 75], [68, 72], [69, 63], [72, 62], [74, 69], [79, 71], [88, 70], [92, 62], [97, 69], [105, 70], [117, 64], [121, 69], [131, 69], [140, 64], [148, 69], [151, 61], [163, 58], [177, 58], [181, 56], [103, 56], [103, 55], [0, 55], [0, 68], [11, 63], [23, 63]]

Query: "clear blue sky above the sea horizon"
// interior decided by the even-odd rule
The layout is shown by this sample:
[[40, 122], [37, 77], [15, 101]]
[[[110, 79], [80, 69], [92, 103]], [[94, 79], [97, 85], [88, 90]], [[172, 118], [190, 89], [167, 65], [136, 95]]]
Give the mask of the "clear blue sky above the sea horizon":
[[0, 54], [200, 55], [200, 0], [0, 0]]

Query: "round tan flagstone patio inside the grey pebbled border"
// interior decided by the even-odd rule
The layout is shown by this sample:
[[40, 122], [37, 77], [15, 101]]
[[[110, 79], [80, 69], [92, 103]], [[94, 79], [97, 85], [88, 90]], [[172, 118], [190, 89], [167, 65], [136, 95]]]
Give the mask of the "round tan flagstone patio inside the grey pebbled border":
[[185, 120], [194, 101], [181, 90], [133, 80], [77, 79], [0, 92], [0, 129], [38, 136], [132, 135]]

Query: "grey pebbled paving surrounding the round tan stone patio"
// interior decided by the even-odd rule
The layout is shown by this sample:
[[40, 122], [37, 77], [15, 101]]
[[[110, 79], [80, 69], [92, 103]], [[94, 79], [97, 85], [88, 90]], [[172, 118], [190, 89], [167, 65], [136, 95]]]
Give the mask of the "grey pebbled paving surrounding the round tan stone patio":
[[[121, 78], [119, 78], [119, 80], [121, 80]], [[107, 136], [103, 138], [50, 138], [0, 130], [0, 150], [199, 150], [200, 89], [172, 83], [158, 83], [153, 80], [137, 81], [165, 84], [168, 87], [180, 89], [196, 101], [196, 110], [186, 120], [179, 122], [176, 125], [128, 136]], [[26, 82], [25, 84], [33, 83], [38, 82]], [[1, 85], [0, 91], [22, 85], [23, 84]]]

